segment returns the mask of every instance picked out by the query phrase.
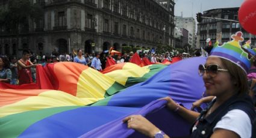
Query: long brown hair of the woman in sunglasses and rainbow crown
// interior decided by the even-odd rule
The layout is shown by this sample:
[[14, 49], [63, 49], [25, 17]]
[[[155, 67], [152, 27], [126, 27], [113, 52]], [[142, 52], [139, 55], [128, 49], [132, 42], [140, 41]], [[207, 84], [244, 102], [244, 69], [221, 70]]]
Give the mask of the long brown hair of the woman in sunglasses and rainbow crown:
[[234, 87], [237, 90], [239, 90], [239, 94], [248, 92], [248, 80], [245, 71], [231, 61], [228, 61], [223, 58], [220, 58], [220, 60], [222, 61], [222, 64], [225, 67], [225, 69], [228, 70], [228, 73], [231, 76], [231, 81], [235, 82]]

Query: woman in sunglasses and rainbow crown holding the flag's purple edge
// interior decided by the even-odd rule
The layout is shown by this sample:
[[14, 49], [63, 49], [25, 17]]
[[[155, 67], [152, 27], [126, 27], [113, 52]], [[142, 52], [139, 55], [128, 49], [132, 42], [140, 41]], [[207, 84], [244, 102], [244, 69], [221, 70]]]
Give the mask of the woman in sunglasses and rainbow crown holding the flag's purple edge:
[[[246, 79], [251, 58], [239, 44], [243, 41], [242, 32], [232, 38], [229, 43], [214, 46], [205, 64], [199, 65], [206, 94], [215, 97], [206, 109], [193, 112], [170, 97], [163, 98], [172, 112], [192, 124], [190, 137], [256, 137], [256, 113]], [[149, 137], [169, 137], [140, 115], [128, 116], [123, 122]]]

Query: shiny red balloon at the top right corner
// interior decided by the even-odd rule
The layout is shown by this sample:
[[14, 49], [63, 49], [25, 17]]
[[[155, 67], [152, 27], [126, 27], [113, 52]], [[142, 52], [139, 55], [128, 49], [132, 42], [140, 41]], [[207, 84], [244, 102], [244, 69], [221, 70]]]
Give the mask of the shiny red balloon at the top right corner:
[[239, 22], [243, 29], [256, 35], [256, 1], [246, 0], [239, 8]]

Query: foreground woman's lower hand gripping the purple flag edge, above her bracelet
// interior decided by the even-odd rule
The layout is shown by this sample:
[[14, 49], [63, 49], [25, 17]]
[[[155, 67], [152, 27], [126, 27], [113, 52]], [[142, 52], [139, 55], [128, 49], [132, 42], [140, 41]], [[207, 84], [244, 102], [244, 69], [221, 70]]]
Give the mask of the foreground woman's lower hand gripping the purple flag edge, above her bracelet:
[[127, 122], [128, 128], [139, 131], [149, 137], [154, 137], [154, 135], [160, 131], [154, 124], [141, 115], [128, 116], [123, 119], [123, 122]]

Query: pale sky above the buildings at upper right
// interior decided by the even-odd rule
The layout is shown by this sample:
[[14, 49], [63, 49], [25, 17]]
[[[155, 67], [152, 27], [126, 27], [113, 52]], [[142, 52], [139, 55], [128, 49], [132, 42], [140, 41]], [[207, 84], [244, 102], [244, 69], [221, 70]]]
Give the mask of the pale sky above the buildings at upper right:
[[[175, 0], [175, 16], [196, 17], [196, 13], [213, 8], [240, 7], [245, 0]], [[201, 11], [202, 4], [202, 11]], [[193, 10], [192, 10], [193, 5]], [[193, 12], [192, 12], [193, 11]]]

